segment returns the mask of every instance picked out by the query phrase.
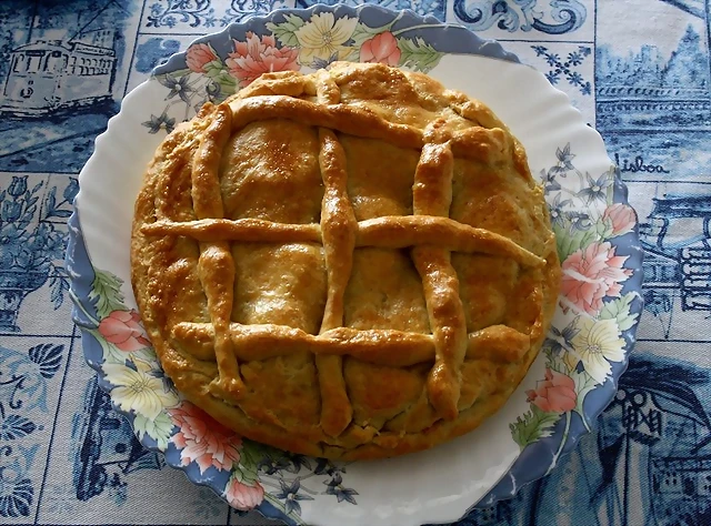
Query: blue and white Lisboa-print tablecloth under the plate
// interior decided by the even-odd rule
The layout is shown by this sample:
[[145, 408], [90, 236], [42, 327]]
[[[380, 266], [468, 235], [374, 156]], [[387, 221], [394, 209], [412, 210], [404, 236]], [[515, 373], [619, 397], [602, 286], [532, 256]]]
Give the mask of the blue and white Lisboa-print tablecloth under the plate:
[[[123, 95], [198, 36], [312, 3], [0, 2], [0, 524], [276, 524], [138, 444], [83, 362], [62, 259], [77, 174]], [[711, 524], [711, 2], [377, 3], [497, 38], [568, 93], [619, 164], [647, 251], [639, 343], [595, 432], [549, 477], [459, 524]], [[72, 39], [116, 51], [104, 97], [2, 113], [11, 92], [42, 89], [11, 74], [13, 50]]]

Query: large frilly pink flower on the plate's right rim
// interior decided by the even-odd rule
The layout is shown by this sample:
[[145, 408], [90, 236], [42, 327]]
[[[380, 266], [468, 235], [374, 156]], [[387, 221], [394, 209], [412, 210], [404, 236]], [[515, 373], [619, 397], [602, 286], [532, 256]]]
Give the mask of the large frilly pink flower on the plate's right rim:
[[575, 307], [588, 314], [602, 308], [602, 299], [619, 296], [622, 285], [632, 271], [622, 265], [628, 256], [614, 255], [610, 243], [592, 243], [568, 256], [562, 264], [563, 295]]

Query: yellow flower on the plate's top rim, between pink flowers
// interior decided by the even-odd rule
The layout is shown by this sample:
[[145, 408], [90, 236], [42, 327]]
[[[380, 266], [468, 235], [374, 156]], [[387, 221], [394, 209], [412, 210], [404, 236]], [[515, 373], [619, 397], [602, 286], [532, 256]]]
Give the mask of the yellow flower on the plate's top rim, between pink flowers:
[[343, 44], [352, 37], [356, 26], [357, 18], [342, 17], [337, 20], [330, 12], [314, 14], [294, 31], [301, 48], [299, 62], [312, 64], [317, 59], [324, 62], [333, 58], [346, 59], [353, 49]]

